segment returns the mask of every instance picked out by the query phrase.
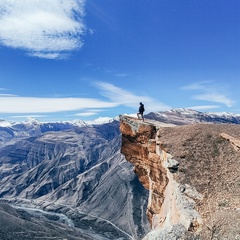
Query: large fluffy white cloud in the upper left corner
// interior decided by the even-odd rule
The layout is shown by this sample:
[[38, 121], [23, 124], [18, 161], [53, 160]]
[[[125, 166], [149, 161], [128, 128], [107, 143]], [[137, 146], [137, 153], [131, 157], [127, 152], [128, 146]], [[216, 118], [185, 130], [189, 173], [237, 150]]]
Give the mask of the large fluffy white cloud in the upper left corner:
[[0, 43], [58, 58], [82, 46], [85, 0], [1, 0]]

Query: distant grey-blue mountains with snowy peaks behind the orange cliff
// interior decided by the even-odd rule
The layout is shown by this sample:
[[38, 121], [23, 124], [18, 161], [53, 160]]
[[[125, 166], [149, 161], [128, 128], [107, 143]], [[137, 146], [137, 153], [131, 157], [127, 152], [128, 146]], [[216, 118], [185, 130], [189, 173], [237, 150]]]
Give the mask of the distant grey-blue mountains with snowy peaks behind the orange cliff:
[[[240, 115], [189, 109], [152, 112], [145, 117], [176, 125], [240, 123]], [[120, 148], [118, 118], [91, 123], [0, 120], [1, 201], [23, 207], [19, 217], [26, 226], [26, 219], [37, 215], [33, 211], [26, 213], [24, 207], [28, 206], [66, 215], [76, 229], [89, 233], [89, 238], [82, 239], [141, 239], [150, 228], [146, 217], [148, 191], [139, 183]], [[13, 211], [10, 206], [0, 206], [0, 211], [4, 209], [5, 215]], [[0, 222], [4, 214], [0, 214]], [[65, 237], [71, 239], [71, 227], [67, 228]], [[25, 230], [28, 232], [27, 227]], [[0, 229], [0, 237], [3, 231]], [[16, 238], [31, 239], [17, 235], [12, 239]], [[74, 232], [72, 239], [81, 238], [75, 238]]]

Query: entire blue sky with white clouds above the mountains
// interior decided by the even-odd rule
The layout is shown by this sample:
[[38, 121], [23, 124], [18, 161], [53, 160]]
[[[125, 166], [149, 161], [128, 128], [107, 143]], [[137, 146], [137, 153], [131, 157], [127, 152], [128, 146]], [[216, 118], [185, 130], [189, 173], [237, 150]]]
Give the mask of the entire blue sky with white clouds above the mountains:
[[0, 119], [240, 114], [238, 0], [0, 0]]

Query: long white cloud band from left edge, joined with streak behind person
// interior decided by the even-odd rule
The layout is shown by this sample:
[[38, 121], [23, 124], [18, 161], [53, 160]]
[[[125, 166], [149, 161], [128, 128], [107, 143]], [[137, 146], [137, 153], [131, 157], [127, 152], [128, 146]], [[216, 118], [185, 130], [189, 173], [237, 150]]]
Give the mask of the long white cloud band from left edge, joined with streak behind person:
[[119, 106], [138, 108], [142, 101], [146, 111], [161, 111], [169, 106], [149, 96], [138, 96], [134, 93], [107, 82], [97, 82], [95, 87], [103, 96], [100, 98], [73, 97], [22, 97], [18, 95], [0, 95], [0, 113], [19, 114], [22, 116], [42, 115], [57, 112], [75, 112], [75, 116], [93, 116]]

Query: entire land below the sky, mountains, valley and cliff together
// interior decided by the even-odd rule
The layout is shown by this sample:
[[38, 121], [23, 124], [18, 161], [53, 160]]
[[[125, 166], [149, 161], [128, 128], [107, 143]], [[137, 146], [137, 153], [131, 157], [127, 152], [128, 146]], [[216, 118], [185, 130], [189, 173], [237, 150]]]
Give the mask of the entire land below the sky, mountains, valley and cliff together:
[[0, 120], [0, 238], [238, 239], [239, 139], [239, 116], [190, 109]]

